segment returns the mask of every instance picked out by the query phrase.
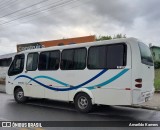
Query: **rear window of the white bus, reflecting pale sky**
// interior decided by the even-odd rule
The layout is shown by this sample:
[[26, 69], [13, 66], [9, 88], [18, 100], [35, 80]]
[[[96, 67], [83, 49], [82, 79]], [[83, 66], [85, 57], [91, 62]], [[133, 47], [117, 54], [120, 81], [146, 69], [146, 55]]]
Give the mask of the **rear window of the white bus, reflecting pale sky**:
[[141, 52], [141, 61], [143, 64], [153, 66], [152, 54], [147, 45], [144, 43], [139, 43], [139, 48]]

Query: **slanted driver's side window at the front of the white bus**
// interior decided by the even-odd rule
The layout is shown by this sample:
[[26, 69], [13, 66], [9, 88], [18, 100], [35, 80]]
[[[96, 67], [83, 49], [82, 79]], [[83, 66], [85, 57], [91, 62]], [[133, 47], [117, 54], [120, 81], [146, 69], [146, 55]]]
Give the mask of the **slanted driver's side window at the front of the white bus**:
[[24, 54], [16, 55], [9, 70], [8, 75], [13, 76], [22, 73], [24, 69]]

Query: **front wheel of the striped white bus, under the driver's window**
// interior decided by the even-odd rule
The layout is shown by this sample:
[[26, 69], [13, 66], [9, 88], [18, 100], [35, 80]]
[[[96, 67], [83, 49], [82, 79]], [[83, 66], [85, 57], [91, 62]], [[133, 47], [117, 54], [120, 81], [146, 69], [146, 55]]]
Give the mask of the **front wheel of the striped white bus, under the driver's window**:
[[25, 103], [27, 101], [27, 97], [24, 96], [22, 88], [17, 88], [14, 91], [14, 99], [17, 103]]

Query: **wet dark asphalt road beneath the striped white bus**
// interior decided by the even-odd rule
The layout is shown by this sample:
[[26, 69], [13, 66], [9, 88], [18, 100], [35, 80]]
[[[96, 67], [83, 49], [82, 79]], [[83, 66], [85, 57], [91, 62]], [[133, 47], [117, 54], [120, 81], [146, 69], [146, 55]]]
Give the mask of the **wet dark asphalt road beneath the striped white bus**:
[[[0, 121], [160, 121], [160, 111], [121, 106], [98, 106], [93, 112], [84, 114], [77, 112], [73, 104], [44, 99], [32, 99], [26, 104], [17, 104], [12, 95], [0, 93]], [[144, 129], [159, 130], [159, 128]], [[3, 129], [0, 128], [0, 130]], [[35, 130], [44, 129], [52, 130], [53, 128], [37, 128]], [[54, 129], [61, 130], [63, 128]], [[81, 130], [81, 128], [72, 129]], [[89, 130], [89, 128], [85, 129]], [[92, 130], [94, 129], [97, 128], [92, 128]], [[124, 128], [120, 129], [124, 130]], [[19, 128], [18, 130], [30, 129]]]

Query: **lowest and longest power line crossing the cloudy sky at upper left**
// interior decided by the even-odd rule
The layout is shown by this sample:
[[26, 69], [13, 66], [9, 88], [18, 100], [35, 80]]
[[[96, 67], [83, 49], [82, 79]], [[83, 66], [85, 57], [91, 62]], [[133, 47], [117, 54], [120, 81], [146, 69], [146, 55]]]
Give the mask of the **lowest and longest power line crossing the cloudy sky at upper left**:
[[57, 5], [52, 5], [52, 6], [48, 7], [48, 8], [43, 9], [43, 10], [40, 10], [40, 11], [37, 11], [37, 12], [34, 12], [34, 13], [30, 13], [30, 14], [21, 16], [21, 17], [19, 17], [19, 18], [12, 19], [12, 20], [7, 21], [7, 22], [4, 22], [4, 23], [2, 23], [2, 24], [0, 24], [0, 25], [5, 25], [5, 24], [8, 24], [8, 23], [17, 21], [17, 20], [19, 20], [19, 19], [22, 19], [22, 18], [25, 18], [25, 17], [28, 17], [28, 16], [32, 16], [32, 15], [34, 15], [34, 14], [39, 14], [39, 13], [44, 12], [44, 11], [47, 11], [47, 10], [49, 10], [49, 9], [51, 9], [51, 8], [59, 7], [59, 6], [65, 5], [65, 4], [67, 4], [67, 3], [71, 3], [71, 2], [73, 2], [73, 1], [77, 1], [77, 0], [69, 0], [69, 1], [65, 1], [65, 2], [62, 2], [62, 3], [57, 4]]

